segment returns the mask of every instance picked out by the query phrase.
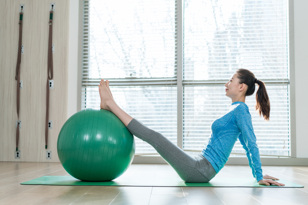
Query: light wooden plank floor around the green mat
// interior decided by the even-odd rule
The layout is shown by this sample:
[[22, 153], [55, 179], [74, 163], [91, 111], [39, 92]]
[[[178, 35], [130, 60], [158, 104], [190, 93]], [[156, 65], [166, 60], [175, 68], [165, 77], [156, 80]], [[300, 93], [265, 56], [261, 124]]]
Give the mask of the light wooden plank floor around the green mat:
[[[276, 187], [115, 187], [22, 185], [43, 175], [68, 175], [59, 163], [0, 162], [0, 204], [308, 204], [307, 166], [262, 166], [263, 174], [304, 185]], [[132, 164], [129, 176], [177, 176], [169, 165]], [[216, 177], [252, 177], [249, 166], [226, 165]]]

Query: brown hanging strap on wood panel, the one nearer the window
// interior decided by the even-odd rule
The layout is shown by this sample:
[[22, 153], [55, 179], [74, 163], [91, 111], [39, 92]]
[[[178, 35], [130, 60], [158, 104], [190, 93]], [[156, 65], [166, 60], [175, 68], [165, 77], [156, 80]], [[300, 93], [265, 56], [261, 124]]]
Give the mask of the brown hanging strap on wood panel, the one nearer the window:
[[[53, 62], [52, 62], [52, 15], [53, 11], [49, 15], [49, 40], [48, 40], [48, 77], [47, 77], [47, 86], [46, 86], [46, 127], [45, 127], [45, 149], [47, 149], [48, 143], [48, 117], [49, 117], [49, 80], [53, 77]], [[49, 75], [50, 74], [50, 75]]]

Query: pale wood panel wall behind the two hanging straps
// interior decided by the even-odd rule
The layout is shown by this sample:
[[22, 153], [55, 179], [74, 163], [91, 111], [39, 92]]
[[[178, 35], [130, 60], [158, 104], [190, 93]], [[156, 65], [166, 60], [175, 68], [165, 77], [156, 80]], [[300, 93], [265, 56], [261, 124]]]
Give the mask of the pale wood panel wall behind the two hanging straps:
[[[49, 34], [49, 5], [55, 4], [53, 39], [55, 53], [54, 89], [50, 89], [48, 148], [52, 159], [46, 159], [45, 114], [47, 51]], [[18, 149], [16, 150], [16, 86], [15, 69], [18, 53], [19, 4], [25, 4], [23, 14], [19, 119], [22, 121]], [[67, 119], [68, 70], [68, 0], [2, 0], [0, 1], [0, 161], [59, 162], [57, 139]]]

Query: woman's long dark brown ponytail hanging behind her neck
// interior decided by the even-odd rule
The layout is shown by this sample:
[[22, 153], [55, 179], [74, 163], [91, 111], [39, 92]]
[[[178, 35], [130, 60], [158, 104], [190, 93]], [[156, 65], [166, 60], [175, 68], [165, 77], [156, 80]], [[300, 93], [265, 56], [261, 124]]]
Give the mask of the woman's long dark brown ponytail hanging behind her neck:
[[270, 99], [267, 95], [265, 84], [257, 79], [256, 83], [259, 85], [256, 93], [256, 110], [259, 111], [260, 116], [261, 114], [263, 115], [265, 120], [270, 120]]

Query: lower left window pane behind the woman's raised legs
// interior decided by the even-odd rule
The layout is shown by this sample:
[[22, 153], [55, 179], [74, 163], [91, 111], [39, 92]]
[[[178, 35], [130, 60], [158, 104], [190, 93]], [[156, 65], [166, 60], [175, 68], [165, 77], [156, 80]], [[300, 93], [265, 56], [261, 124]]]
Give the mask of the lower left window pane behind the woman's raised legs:
[[[173, 143], [177, 142], [176, 87], [110, 87], [117, 104]], [[83, 108], [99, 108], [98, 88], [84, 89]], [[136, 140], [136, 153], [156, 153], [148, 143]]]

